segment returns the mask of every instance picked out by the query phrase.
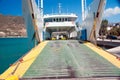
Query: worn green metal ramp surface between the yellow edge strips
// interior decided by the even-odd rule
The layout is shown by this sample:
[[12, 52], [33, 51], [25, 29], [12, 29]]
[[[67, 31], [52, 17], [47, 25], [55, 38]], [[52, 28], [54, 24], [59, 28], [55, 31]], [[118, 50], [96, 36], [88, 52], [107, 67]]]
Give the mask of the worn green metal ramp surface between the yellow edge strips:
[[77, 40], [58, 40], [47, 43], [23, 80], [91, 77], [120, 77], [120, 69]]

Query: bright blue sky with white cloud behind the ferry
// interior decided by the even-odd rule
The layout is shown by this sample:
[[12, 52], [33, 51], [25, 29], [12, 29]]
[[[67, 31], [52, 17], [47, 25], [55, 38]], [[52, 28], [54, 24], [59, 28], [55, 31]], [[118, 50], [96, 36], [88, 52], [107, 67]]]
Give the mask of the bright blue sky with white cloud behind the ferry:
[[[43, 0], [44, 14], [58, 13], [61, 3], [62, 13], [75, 13], [81, 22], [81, 0]], [[86, 0], [87, 6], [93, 0]], [[0, 14], [22, 16], [22, 0], [0, 0]], [[107, 0], [103, 19], [109, 23], [120, 22], [120, 0]]]

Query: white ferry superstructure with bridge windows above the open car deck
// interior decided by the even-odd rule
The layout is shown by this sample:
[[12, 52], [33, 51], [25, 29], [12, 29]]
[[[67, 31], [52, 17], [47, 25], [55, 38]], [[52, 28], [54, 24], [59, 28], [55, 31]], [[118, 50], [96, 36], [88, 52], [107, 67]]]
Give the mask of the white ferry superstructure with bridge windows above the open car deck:
[[73, 13], [44, 15], [45, 39], [60, 36], [66, 36], [67, 38], [77, 36], [75, 33], [76, 19], [77, 15]]

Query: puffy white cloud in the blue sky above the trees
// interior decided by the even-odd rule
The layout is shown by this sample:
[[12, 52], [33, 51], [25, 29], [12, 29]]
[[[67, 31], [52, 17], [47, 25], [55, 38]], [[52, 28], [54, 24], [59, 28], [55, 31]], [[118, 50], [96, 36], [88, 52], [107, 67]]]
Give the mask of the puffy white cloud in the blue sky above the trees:
[[119, 7], [115, 7], [115, 8], [108, 8], [104, 11], [104, 17], [110, 17], [113, 15], [117, 15], [120, 14], [120, 8]]

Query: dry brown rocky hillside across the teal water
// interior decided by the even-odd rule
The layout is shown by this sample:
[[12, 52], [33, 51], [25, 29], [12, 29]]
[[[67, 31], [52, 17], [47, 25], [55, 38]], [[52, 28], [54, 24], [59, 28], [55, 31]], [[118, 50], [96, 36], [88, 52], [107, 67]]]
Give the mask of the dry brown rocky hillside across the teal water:
[[4, 16], [0, 14], [0, 37], [25, 37], [26, 27], [20, 16]]

